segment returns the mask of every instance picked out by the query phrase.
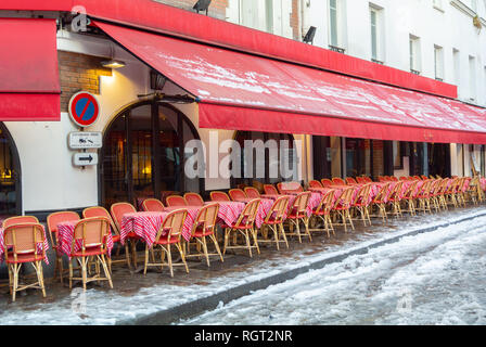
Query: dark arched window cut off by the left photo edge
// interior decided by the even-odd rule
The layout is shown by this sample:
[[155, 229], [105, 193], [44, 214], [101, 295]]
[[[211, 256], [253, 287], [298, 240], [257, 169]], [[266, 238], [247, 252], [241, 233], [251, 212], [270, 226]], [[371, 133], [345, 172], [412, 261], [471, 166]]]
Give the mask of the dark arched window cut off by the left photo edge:
[[21, 160], [7, 127], [0, 123], [0, 219], [22, 215]]

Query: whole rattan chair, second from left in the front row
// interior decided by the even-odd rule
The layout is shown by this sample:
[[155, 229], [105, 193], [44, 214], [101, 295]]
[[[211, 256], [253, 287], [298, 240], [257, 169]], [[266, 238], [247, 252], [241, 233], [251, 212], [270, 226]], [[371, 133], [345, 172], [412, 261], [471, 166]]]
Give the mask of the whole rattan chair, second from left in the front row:
[[[71, 258], [79, 264], [80, 277], [74, 277], [73, 261], [69, 261], [69, 290], [73, 287], [73, 280], [82, 281], [82, 288], [86, 291], [88, 282], [108, 281], [110, 287], [113, 288], [112, 275], [106, 264], [106, 240], [110, 232], [110, 219], [106, 217], [85, 218], [77, 222], [74, 229], [74, 239], [71, 247]], [[76, 250], [76, 241], [81, 241], [81, 249]], [[95, 271], [92, 277], [88, 277], [88, 262], [94, 260]], [[104, 277], [101, 275], [101, 267]]]

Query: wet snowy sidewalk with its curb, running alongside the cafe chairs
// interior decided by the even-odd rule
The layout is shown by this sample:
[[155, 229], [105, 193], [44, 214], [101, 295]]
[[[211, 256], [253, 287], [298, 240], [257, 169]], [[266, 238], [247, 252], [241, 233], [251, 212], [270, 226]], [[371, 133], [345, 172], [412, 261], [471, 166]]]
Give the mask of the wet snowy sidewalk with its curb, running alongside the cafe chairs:
[[[82, 293], [78, 284], [73, 292], [60, 283], [48, 283], [47, 297], [37, 291], [18, 295], [11, 303], [8, 287], [0, 296], [0, 324], [170, 324], [202, 313], [253, 291], [284, 282], [311, 269], [366, 254], [369, 248], [396, 242], [404, 235], [429, 232], [462, 220], [486, 215], [484, 206], [455, 209], [433, 216], [405, 217], [382, 226], [362, 228], [345, 234], [343, 228], [330, 239], [315, 233], [312, 243], [290, 241], [290, 249], [278, 252], [274, 246], [261, 247], [261, 254], [250, 258], [243, 253], [228, 255], [225, 262], [213, 259], [190, 261], [190, 273], [176, 268], [171, 279], [164, 272], [132, 273], [123, 266], [113, 269], [114, 290], [92, 283]], [[325, 290], [325, 288], [323, 288]]]

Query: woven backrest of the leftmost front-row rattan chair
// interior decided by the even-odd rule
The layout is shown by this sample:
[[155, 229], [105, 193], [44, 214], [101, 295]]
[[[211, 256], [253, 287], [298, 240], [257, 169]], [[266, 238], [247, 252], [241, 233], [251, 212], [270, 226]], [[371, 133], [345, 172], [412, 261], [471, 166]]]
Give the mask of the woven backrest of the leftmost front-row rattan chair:
[[[33, 222], [23, 222], [20, 224], [10, 224], [3, 232], [3, 243], [7, 248], [12, 248], [14, 260], [18, 254], [38, 254], [37, 244], [44, 242], [42, 224]], [[42, 248], [43, 249], [43, 248]], [[44, 250], [42, 250], [44, 254]], [[5, 252], [5, 258], [9, 259], [9, 252]]]

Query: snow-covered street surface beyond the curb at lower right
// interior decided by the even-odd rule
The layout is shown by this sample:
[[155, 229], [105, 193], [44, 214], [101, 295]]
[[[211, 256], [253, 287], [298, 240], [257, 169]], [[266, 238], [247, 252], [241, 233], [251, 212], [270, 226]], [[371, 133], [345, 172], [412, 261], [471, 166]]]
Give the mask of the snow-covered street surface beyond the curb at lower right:
[[350, 256], [181, 324], [485, 324], [486, 217]]

